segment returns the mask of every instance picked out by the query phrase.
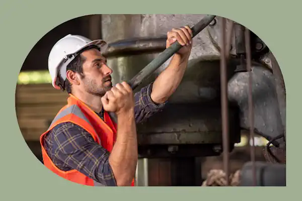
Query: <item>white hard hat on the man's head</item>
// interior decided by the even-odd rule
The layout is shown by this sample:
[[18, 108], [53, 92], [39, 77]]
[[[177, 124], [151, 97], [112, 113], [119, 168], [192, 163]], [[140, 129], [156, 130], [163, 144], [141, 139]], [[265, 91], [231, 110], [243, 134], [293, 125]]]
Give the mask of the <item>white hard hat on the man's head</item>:
[[103, 40], [92, 41], [84, 36], [71, 34], [68, 34], [54, 44], [48, 57], [48, 70], [53, 87], [60, 89], [55, 83], [57, 76], [61, 76], [65, 80], [67, 65], [77, 56], [79, 51], [91, 45], [99, 47], [101, 52], [104, 52], [108, 47], [107, 43]]

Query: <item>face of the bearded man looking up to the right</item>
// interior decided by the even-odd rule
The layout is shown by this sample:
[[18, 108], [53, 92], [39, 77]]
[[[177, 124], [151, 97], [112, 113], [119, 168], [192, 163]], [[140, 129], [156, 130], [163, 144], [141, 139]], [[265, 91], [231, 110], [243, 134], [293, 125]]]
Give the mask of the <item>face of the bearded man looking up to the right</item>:
[[90, 49], [82, 53], [84, 78], [81, 80], [82, 89], [86, 92], [103, 96], [112, 87], [112, 70], [107, 66], [106, 58], [97, 49]]

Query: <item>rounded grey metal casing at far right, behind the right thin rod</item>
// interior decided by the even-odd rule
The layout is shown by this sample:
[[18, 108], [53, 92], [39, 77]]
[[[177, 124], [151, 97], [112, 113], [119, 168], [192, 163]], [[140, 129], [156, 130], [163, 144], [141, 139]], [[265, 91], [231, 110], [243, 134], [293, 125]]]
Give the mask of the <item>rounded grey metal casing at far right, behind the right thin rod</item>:
[[[229, 81], [229, 101], [240, 108], [240, 125], [250, 130], [248, 106], [248, 80], [252, 74], [254, 132], [270, 140], [283, 134], [274, 75], [261, 64], [252, 62], [252, 72], [236, 73]], [[273, 142], [275, 146], [282, 139]]]

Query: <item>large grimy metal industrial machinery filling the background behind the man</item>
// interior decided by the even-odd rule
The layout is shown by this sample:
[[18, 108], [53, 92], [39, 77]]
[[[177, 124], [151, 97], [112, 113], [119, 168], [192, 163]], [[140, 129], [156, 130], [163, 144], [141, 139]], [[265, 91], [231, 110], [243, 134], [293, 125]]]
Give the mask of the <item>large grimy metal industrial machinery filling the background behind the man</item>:
[[[102, 38], [110, 43], [105, 55], [108, 65], [114, 71], [113, 82], [130, 80], [157, 58], [166, 48], [167, 31], [185, 25], [192, 27], [203, 17], [204, 15], [102, 15]], [[221, 32], [224, 28], [227, 34]], [[215, 17], [193, 39], [187, 71], [171, 97], [170, 104], [161, 113], [137, 125], [141, 158], [170, 158], [175, 161], [174, 165], [185, 164], [183, 166], [189, 168], [194, 165], [195, 157], [219, 155], [223, 152], [220, 53], [229, 51], [225, 63], [228, 83], [226, 128], [229, 140], [224, 147], [229, 152], [232, 151], [234, 144], [240, 142], [241, 131], [251, 128], [247, 65], [249, 50], [246, 45], [250, 49], [253, 132], [271, 141], [273, 148], [278, 147], [285, 155], [285, 87], [282, 74], [266, 44], [252, 32], [249, 32], [249, 40], [246, 40], [245, 30], [241, 24], [231, 20], [223, 24], [222, 18]], [[229, 44], [223, 47], [223, 41], [229, 41]], [[138, 89], [154, 81], [168, 63], [169, 60], [145, 79]], [[268, 149], [268, 156], [275, 157], [271, 154], [272, 148]], [[248, 170], [251, 167], [249, 164], [244, 166]], [[261, 167], [264, 167], [263, 164]], [[254, 166], [254, 173], [258, 169]], [[285, 166], [277, 170], [284, 173], [282, 176], [285, 175]], [[285, 182], [282, 179], [283, 177], [281, 181]], [[179, 185], [185, 184], [180, 181]]]

